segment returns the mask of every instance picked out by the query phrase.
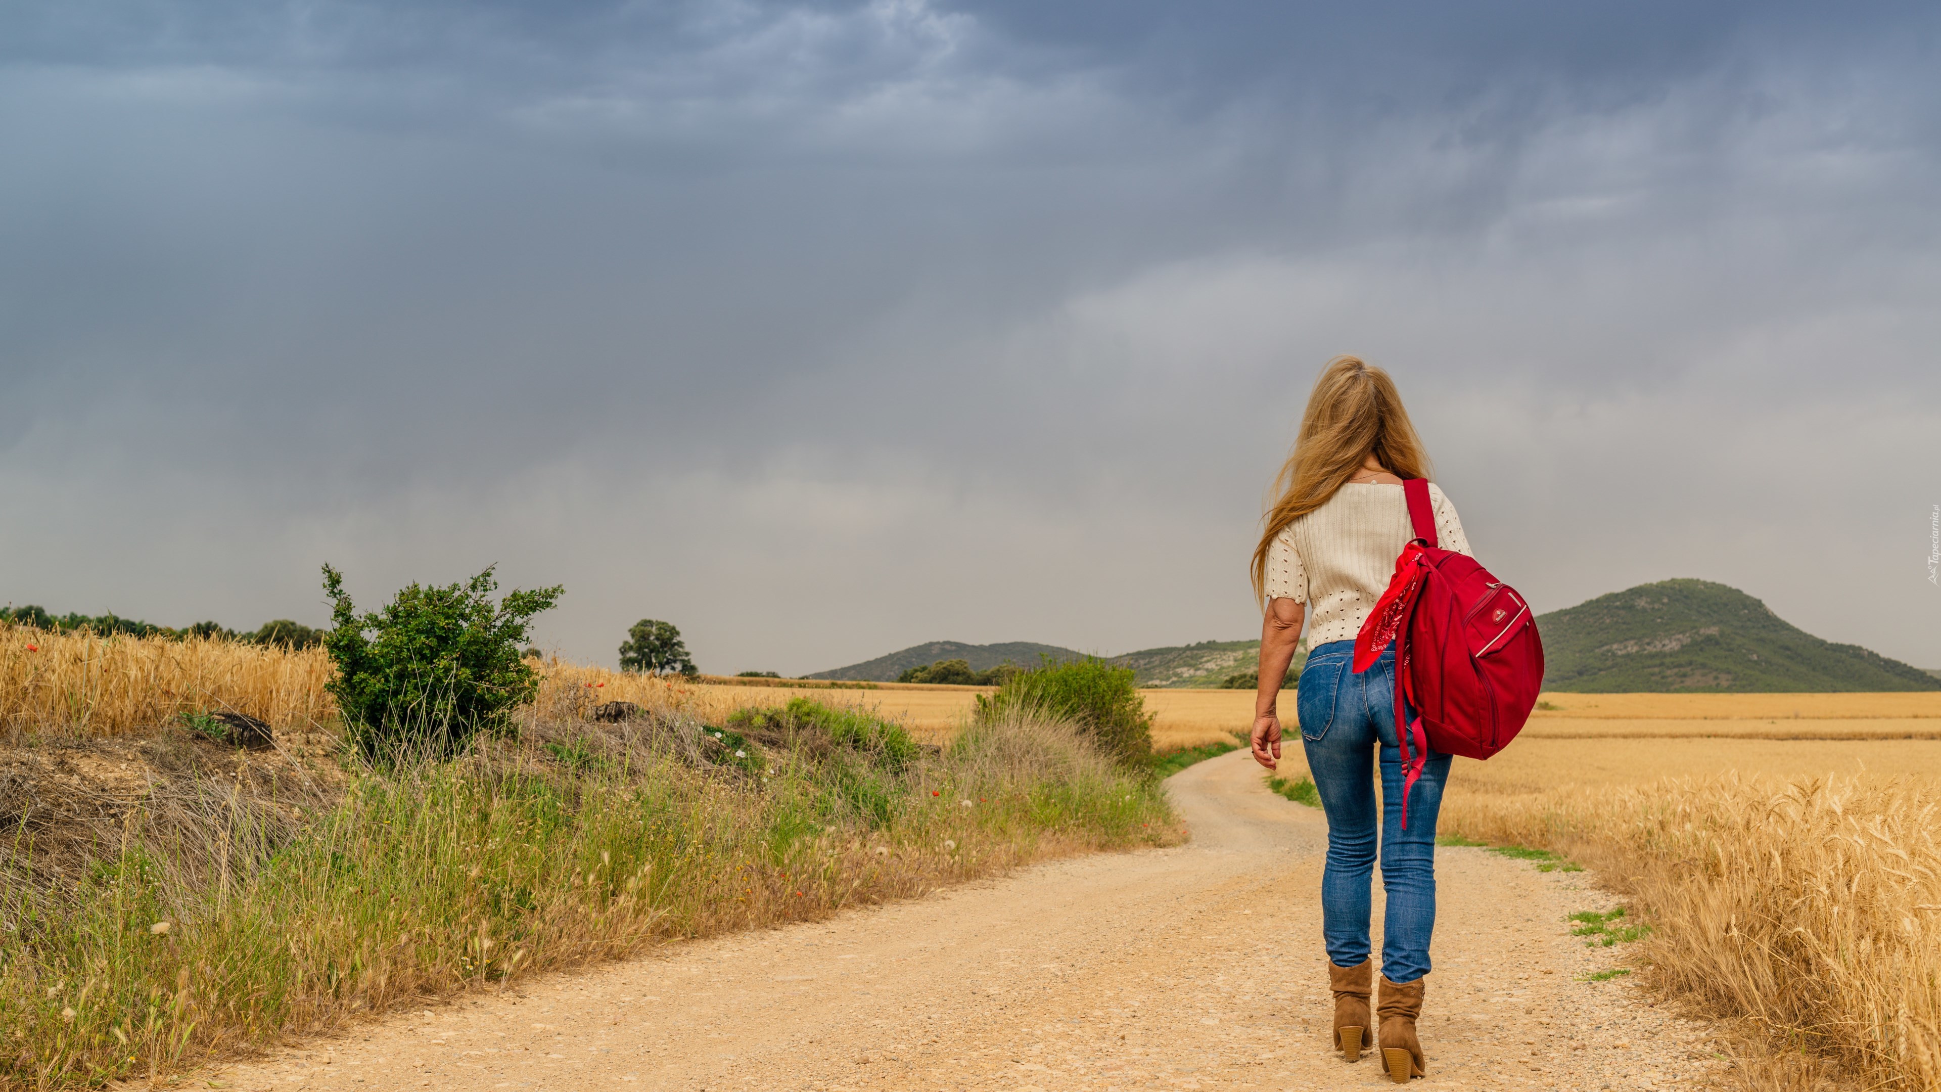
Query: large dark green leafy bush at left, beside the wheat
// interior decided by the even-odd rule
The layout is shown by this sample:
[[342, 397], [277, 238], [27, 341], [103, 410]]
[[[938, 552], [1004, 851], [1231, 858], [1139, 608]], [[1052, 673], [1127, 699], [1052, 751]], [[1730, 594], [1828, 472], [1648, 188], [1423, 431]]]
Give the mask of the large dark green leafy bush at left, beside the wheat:
[[565, 589], [512, 591], [493, 604], [497, 587], [491, 569], [462, 585], [413, 583], [384, 610], [357, 614], [344, 575], [324, 565], [336, 622], [324, 647], [338, 665], [328, 690], [365, 756], [456, 754], [532, 698], [540, 674], [520, 659], [520, 643], [532, 616]]

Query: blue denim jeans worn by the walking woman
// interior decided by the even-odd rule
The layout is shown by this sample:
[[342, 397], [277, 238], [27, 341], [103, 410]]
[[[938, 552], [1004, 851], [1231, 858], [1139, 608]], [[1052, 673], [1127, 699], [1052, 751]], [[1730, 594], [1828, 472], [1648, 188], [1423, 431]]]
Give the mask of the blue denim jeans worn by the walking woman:
[[1450, 756], [1432, 754], [1409, 793], [1409, 830], [1401, 830], [1401, 744], [1396, 742], [1396, 647], [1355, 674], [1355, 641], [1328, 641], [1308, 655], [1295, 692], [1300, 746], [1328, 812], [1328, 865], [1322, 870], [1322, 940], [1337, 968], [1368, 958], [1368, 913], [1374, 902], [1376, 754], [1382, 768], [1382, 973], [1415, 981], [1429, 973], [1429, 938], [1436, 929], [1436, 812]]

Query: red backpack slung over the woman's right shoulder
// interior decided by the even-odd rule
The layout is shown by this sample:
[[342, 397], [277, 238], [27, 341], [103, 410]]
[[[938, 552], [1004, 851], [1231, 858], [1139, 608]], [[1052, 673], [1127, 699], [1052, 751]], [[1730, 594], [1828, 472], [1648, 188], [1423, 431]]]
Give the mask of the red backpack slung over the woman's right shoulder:
[[[1396, 641], [1396, 736], [1407, 771], [1401, 828], [1409, 828], [1409, 789], [1429, 752], [1489, 758], [1510, 744], [1543, 688], [1543, 641], [1516, 589], [1454, 550], [1436, 546], [1429, 482], [1401, 482], [1415, 538], [1401, 548], [1396, 575], [1355, 635], [1355, 670]], [[1403, 700], [1415, 721], [1403, 723]]]

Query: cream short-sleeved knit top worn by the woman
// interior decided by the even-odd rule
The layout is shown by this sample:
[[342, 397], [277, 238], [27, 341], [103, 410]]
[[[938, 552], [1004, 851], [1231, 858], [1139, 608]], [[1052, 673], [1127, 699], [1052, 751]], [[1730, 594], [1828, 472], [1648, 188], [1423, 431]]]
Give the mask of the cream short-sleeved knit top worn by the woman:
[[[1429, 486], [1436, 546], [1469, 554], [1456, 505]], [[1308, 604], [1308, 647], [1353, 641], [1415, 536], [1401, 486], [1349, 482], [1328, 503], [1287, 525], [1267, 548], [1267, 598]]]

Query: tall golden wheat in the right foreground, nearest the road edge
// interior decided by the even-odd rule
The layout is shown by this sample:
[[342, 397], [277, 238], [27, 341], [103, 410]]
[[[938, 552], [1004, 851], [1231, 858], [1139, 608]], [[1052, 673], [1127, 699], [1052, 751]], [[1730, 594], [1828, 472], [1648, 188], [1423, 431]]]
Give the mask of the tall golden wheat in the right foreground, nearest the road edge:
[[[1924, 781], [1726, 773], [1462, 785], [1444, 797], [1442, 830], [1596, 867], [1656, 927], [1640, 944], [1650, 981], [1764, 1043], [1764, 1086], [1811, 1086], [1819, 1059], [1914, 1092], [1941, 1088], [1937, 810]], [[1778, 1065], [1795, 1053], [1809, 1063]]]

